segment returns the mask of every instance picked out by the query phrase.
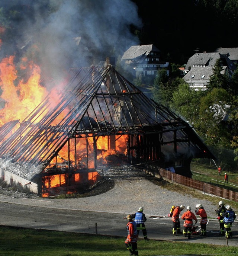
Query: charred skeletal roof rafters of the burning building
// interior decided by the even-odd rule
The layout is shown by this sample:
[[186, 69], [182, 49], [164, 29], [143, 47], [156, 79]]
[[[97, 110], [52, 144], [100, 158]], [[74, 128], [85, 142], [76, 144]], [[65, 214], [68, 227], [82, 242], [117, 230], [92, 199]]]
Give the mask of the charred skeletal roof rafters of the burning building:
[[187, 122], [148, 99], [111, 65], [72, 69], [71, 74], [63, 91], [54, 97], [51, 92], [0, 144], [1, 162], [39, 174], [70, 138], [161, 133], [163, 144], [170, 144], [174, 131], [177, 144], [190, 147], [194, 157], [215, 159]]

